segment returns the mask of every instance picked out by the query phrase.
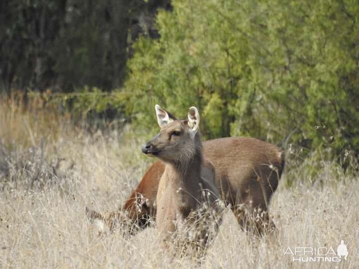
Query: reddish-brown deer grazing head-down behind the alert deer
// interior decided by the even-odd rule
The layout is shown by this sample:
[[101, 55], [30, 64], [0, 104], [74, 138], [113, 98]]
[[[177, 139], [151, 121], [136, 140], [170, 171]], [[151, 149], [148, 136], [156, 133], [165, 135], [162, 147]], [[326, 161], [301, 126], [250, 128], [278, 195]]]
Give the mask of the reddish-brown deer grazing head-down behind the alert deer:
[[[168, 113], [173, 120], [176, 118]], [[284, 141], [287, 141], [288, 135]], [[284, 142], [283, 141], [283, 142]], [[285, 144], [285, 142], [284, 142]], [[251, 137], [224, 137], [203, 142], [204, 158], [213, 163], [216, 186], [222, 200], [230, 206], [239, 224], [248, 228], [248, 219], [255, 211], [267, 211], [270, 199], [278, 186], [285, 166], [284, 151], [278, 146]], [[103, 219], [112, 229], [122, 223], [125, 215], [134, 227], [146, 228], [150, 220], [156, 218], [156, 196], [160, 178], [165, 171], [165, 163], [156, 161], [147, 170], [141, 182], [125, 200], [124, 206]], [[243, 216], [247, 210], [247, 216]], [[248, 216], [251, 215], [251, 216]], [[88, 211], [88, 216], [97, 218], [100, 214]], [[264, 218], [256, 218], [255, 229], [259, 234], [268, 226], [273, 226]], [[263, 222], [262, 222], [263, 221]], [[262, 222], [262, 223], [261, 223]], [[135, 230], [131, 229], [135, 232]]]

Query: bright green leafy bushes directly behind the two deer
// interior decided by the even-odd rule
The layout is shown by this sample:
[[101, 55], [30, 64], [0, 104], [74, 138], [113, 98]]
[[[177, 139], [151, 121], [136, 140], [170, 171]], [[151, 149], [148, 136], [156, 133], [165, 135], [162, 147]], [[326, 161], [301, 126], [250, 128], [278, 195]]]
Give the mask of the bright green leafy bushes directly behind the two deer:
[[202, 115], [207, 138], [272, 142], [296, 127], [301, 145], [359, 152], [359, 4], [353, 0], [174, 0], [161, 37], [128, 62], [127, 113], [155, 124], [159, 103]]

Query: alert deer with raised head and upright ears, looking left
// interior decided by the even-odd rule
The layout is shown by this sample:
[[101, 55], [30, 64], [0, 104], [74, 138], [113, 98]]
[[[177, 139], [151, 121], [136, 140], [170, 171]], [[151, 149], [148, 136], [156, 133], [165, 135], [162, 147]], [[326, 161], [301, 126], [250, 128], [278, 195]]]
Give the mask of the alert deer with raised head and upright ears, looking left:
[[[215, 168], [203, 157], [198, 110], [190, 107], [187, 120], [174, 120], [159, 105], [155, 109], [161, 131], [143, 145], [142, 151], [165, 162], [156, 198], [160, 238], [167, 242], [183, 224], [185, 229], [200, 226], [186, 237], [192, 236], [197, 246], [204, 247], [210, 234], [208, 228], [219, 224], [221, 214]], [[201, 214], [203, 210], [209, 214]], [[209, 219], [212, 224], [206, 223]]]

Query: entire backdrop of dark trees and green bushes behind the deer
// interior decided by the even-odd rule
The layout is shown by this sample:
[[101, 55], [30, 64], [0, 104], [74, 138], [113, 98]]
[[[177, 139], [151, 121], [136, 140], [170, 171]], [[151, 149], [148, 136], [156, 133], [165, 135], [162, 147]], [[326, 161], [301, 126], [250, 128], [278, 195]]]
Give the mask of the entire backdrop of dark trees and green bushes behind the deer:
[[0, 77], [145, 129], [155, 103], [197, 106], [205, 138], [298, 128], [291, 141], [344, 164], [359, 152], [358, 20], [354, 0], [3, 1]]

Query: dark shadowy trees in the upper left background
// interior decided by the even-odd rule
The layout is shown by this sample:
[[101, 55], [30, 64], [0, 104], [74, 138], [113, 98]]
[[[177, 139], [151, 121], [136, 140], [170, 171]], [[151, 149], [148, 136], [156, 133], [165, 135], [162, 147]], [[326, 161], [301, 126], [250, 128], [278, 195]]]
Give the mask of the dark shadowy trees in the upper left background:
[[159, 6], [169, 0], [1, 1], [0, 79], [62, 92], [120, 87], [132, 42], [140, 33], [158, 36]]

